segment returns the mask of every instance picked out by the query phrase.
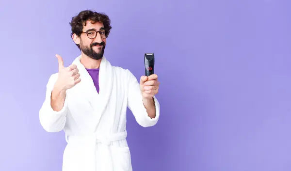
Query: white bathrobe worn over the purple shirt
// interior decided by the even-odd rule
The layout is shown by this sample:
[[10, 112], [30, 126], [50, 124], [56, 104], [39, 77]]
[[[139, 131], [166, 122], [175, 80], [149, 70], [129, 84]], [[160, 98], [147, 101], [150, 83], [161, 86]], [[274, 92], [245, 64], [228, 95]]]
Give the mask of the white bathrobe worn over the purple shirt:
[[[63, 171], [132, 171], [127, 144], [126, 109], [143, 127], [153, 126], [160, 116], [156, 97], [156, 117], [148, 117], [139, 82], [127, 69], [112, 66], [103, 57], [99, 71], [99, 93], [80, 62], [74, 60], [81, 82], [66, 91], [62, 110], [50, 106], [50, 94], [58, 78], [52, 74], [45, 101], [39, 111], [40, 123], [48, 132], [65, 131], [68, 142], [63, 156]], [[56, 142], [58, 143], [58, 142]]]

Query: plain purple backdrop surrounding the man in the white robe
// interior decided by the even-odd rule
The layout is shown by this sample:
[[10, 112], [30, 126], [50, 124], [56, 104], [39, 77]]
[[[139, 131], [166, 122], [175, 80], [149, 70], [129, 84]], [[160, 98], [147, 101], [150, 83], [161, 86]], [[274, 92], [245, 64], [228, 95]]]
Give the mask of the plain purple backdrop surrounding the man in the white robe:
[[128, 115], [134, 171], [291, 170], [290, 0], [1, 0], [0, 171], [61, 171], [63, 132], [38, 111], [55, 54], [79, 54], [69, 21], [112, 19], [106, 57], [144, 74], [154, 52], [161, 120]]

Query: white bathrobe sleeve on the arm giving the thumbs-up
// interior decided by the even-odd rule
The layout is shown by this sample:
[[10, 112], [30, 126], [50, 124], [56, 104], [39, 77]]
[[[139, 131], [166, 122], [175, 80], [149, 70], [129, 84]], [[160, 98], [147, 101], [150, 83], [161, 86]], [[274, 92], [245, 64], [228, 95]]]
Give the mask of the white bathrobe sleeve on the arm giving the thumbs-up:
[[50, 95], [57, 80], [57, 74], [53, 74], [47, 83], [45, 101], [39, 110], [39, 120], [42, 127], [48, 132], [59, 132], [63, 130], [66, 121], [67, 99], [60, 111], [54, 111], [50, 106]]

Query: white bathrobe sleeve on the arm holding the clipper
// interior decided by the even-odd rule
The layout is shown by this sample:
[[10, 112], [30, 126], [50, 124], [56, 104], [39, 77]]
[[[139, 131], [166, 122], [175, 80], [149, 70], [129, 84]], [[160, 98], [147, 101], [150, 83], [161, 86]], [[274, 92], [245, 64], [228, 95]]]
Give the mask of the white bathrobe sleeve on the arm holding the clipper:
[[143, 96], [140, 91], [139, 82], [135, 76], [127, 70], [128, 76], [128, 108], [131, 110], [138, 124], [143, 127], [153, 126], [157, 124], [160, 118], [160, 103], [154, 96], [154, 102], [156, 107], [156, 117], [150, 118], [146, 112], [146, 108], [143, 103]]

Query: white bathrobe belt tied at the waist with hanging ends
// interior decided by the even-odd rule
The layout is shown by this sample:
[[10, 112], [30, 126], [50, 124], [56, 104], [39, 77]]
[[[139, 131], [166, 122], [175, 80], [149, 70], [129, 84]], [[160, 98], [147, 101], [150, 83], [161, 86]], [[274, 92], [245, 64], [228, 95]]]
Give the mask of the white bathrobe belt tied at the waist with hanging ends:
[[[118, 132], [110, 135], [101, 134], [90, 134], [90, 135], [77, 135], [77, 136], [65, 136], [67, 143], [74, 143], [76, 145], [81, 145], [80, 142], [84, 142], [86, 151], [89, 153], [88, 162], [90, 163], [90, 171], [96, 171], [96, 144], [100, 143], [98, 146], [98, 152], [100, 153], [100, 169], [102, 171], [113, 171], [113, 161], [111, 154], [111, 143], [118, 140], [124, 140], [127, 137], [127, 132]], [[79, 143], [78, 143], [79, 142]]]

